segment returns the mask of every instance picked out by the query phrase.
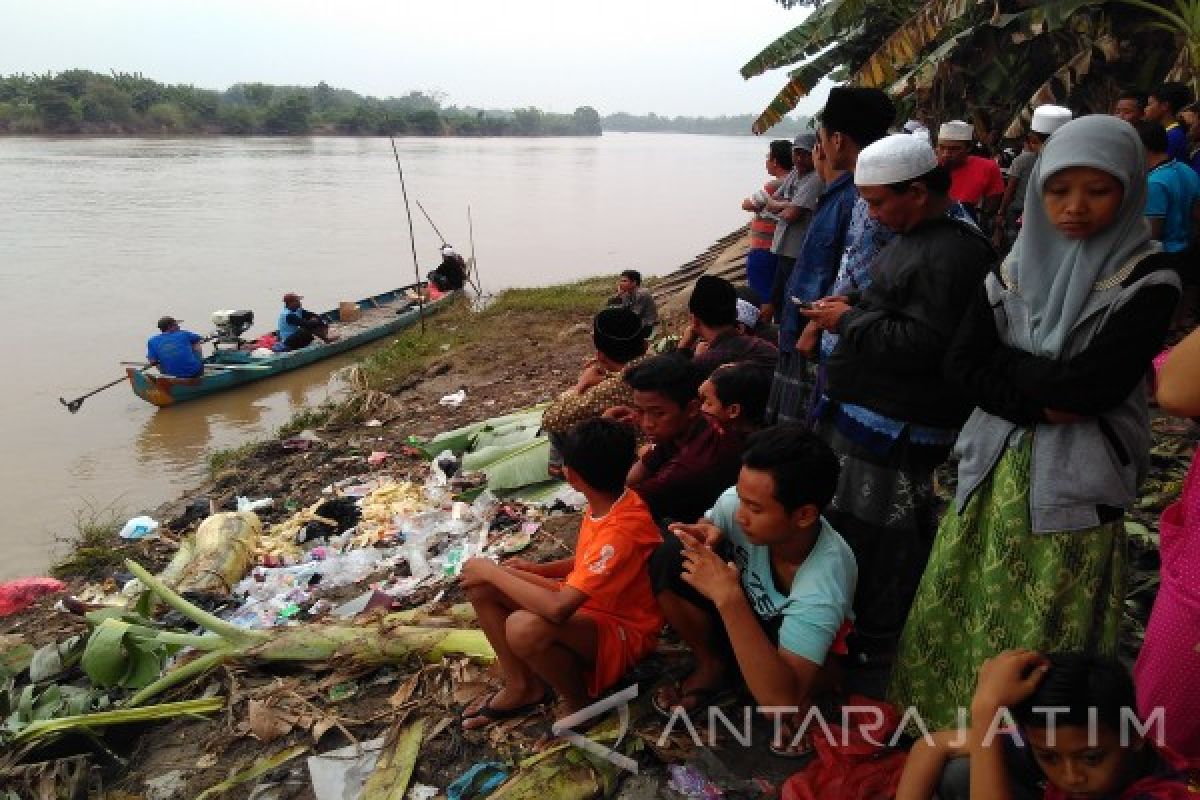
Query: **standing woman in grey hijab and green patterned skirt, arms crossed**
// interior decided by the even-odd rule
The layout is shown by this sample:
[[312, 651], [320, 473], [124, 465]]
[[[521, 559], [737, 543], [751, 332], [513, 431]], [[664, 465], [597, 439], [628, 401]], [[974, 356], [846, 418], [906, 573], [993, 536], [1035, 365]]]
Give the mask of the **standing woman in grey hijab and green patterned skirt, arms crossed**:
[[892, 686], [930, 729], [959, 722], [979, 666], [1002, 650], [1116, 652], [1122, 519], [1150, 451], [1146, 371], [1180, 296], [1145, 200], [1132, 126], [1060, 128], [1013, 251], [947, 355], [977, 408]]

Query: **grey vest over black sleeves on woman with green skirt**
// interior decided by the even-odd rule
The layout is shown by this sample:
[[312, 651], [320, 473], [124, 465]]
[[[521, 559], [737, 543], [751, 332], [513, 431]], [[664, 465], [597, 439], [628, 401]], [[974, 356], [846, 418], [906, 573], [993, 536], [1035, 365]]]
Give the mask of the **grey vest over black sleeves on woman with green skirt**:
[[[1128, 287], [1121, 282], [1141, 258], [1097, 284], [1070, 332], [1063, 357], [1087, 349], [1109, 315], [1144, 287], [1180, 285], [1178, 275], [1156, 270]], [[995, 275], [985, 281], [1000, 339], [1032, 351], [1028, 306]], [[962, 427], [954, 451], [960, 458], [955, 503], [961, 512], [967, 500], [995, 468], [1018, 431], [1033, 437], [1030, 465], [1030, 516], [1034, 533], [1081, 530], [1100, 524], [1097, 505], [1128, 509], [1150, 461], [1147, 387], [1141, 381], [1116, 408], [1074, 425], [1020, 427], [976, 409]]]

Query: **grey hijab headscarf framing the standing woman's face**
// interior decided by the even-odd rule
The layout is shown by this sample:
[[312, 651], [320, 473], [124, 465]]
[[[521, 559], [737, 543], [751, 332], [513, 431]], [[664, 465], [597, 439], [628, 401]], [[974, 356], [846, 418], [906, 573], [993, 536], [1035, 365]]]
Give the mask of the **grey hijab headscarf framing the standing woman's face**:
[[[1069, 167], [1093, 167], [1124, 187], [1111, 225], [1091, 239], [1072, 240], [1050, 222], [1042, 204], [1046, 180]], [[1004, 275], [1030, 307], [1036, 355], [1058, 357], [1098, 281], [1152, 249], [1146, 205], [1146, 154], [1138, 132], [1115, 116], [1081, 116], [1046, 142], [1025, 192], [1021, 233]]]

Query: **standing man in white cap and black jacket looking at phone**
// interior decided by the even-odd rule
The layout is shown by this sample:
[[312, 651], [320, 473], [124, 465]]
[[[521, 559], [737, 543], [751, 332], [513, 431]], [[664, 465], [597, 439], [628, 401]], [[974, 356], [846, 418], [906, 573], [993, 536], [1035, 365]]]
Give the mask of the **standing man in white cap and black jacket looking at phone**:
[[841, 463], [826, 516], [858, 563], [851, 652], [886, 663], [937, 527], [934, 470], [971, 413], [942, 362], [992, 251], [950, 216], [949, 175], [918, 137], [896, 133], [863, 150], [854, 184], [896, 237], [858, 296], [800, 313], [839, 335], [817, 405], [817, 435]]

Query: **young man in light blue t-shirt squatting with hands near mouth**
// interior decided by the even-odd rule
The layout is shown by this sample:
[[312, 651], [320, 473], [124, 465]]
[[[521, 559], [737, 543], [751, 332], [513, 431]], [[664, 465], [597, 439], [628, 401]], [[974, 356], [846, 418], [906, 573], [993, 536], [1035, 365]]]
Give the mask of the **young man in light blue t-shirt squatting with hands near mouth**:
[[[858, 567], [850, 546], [821, 517], [838, 486], [833, 451], [799, 425], [750, 437], [742, 473], [707, 518], [674, 524], [650, 559], [667, 622], [696, 668], [654, 696], [664, 715], [712, 704], [734, 669], [760, 706], [806, 712], [832, 682], [830, 652], [845, 652]], [[732, 656], [732, 657], [731, 657]], [[772, 745], [799, 756], [791, 734]]]

